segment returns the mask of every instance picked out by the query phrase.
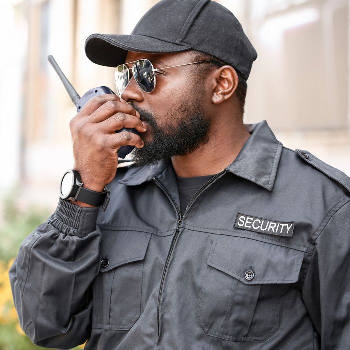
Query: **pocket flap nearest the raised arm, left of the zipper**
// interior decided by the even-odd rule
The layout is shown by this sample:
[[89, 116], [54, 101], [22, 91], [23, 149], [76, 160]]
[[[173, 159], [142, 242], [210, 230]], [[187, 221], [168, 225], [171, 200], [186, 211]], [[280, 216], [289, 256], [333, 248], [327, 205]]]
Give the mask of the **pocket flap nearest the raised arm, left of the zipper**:
[[101, 260], [108, 260], [108, 265], [100, 267], [100, 272], [144, 260], [151, 233], [113, 230], [101, 230], [101, 232], [100, 257]]

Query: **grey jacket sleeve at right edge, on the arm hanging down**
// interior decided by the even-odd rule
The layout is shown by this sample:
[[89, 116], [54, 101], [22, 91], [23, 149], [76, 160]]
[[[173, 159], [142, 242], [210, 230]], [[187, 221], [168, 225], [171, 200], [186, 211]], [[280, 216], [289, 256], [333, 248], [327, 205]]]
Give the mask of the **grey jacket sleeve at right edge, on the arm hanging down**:
[[350, 201], [326, 219], [303, 286], [303, 297], [322, 349], [350, 344]]

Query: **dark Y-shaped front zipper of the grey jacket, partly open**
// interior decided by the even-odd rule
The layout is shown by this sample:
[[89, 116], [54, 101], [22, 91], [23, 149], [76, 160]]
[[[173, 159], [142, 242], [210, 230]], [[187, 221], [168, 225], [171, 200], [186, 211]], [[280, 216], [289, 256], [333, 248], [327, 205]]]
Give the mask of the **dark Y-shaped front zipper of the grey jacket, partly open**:
[[[187, 210], [189, 209], [189, 207], [192, 205], [193, 201], [207, 188], [207, 186], [212, 183], [213, 181], [215, 181], [217, 178], [221, 177], [223, 174], [225, 174], [227, 172], [227, 169], [224, 169], [223, 171], [221, 171], [220, 173], [218, 173], [216, 176], [212, 177], [208, 182], [206, 182], [192, 197], [192, 199], [189, 201], [189, 203], [187, 204], [187, 207], [184, 211], [184, 213], [187, 212]], [[169, 196], [169, 198], [171, 198], [171, 200], [173, 201], [173, 203], [176, 206], [177, 212], [178, 212], [178, 221], [177, 221], [177, 227], [175, 230], [175, 234], [174, 237], [171, 241], [171, 245], [170, 245], [170, 249], [169, 252], [167, 254], [166, 257], [166, 261], [165, 261], [165, 266], [164, 266], [164, 271], [163, 274], [161, 276], [161, 281], [160, 281], [160, 288], [159, 288], [159, 296], [158, 296], [158, 304], [157, 304], [157, 322], [158, 322], [158, 335], [159, 335], [159, 331], [160, 331], [160, 303], [161, 303], [161, 297], [163, 294], [163, 287], [164, 287], [164, 282], [165, 282], [165, 277], [167, 274], [167, 270], [169, 268], [170, 265], [170, 260], [172, 257], [172, 253], [174, 251], [175, 245], [178, 241], [178, 237], [180, 235], [180, 230], [181, 230], [181, 224], [182, 224], [182, 220], [184, 218], [184, 214], [181, 213], [174, 197], [171, 195], [171, 193], [166, 189], [166, 187], [163, 186], [163, 184], [158, 181], [155, 177], [153, 178], [153, 181], [155, 183], [157, 183], [159, 185], [159, 187], [161, 187], [161, 189]]]

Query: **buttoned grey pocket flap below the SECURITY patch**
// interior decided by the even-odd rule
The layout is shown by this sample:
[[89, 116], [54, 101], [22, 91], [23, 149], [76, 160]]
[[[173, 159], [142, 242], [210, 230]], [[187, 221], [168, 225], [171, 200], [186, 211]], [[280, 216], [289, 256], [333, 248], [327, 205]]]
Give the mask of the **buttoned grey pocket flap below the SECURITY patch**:
[[[208, 265], [245, 284], [295, 283], [304, 253], [253, 239], [219, 236]], [[248, 271], [253, 272], [246, 274]], [[248, 278], [246, 278], [246, 276]]]

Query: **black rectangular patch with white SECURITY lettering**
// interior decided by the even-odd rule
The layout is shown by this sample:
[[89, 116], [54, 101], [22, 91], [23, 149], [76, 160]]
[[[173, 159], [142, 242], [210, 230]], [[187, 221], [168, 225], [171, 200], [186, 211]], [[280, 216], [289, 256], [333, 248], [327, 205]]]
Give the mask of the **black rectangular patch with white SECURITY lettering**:
[[234, 227], [257, 233], [291, 237], [293, 235], [294, 222], [272, 221], [261, 217], [238, 213]]

